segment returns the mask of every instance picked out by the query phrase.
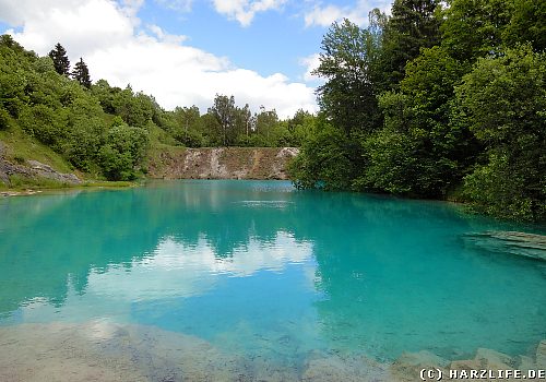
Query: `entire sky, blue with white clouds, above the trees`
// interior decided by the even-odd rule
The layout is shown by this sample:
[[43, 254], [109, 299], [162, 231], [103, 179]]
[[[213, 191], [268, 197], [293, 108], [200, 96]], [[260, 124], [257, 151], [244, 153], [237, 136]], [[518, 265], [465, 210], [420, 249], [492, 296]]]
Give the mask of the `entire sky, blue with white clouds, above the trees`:
[[309, 75], [322, 36], [391, 0], [0, 0], [0, 32], [47, 55], [60, 41], [92, 80], [152, 94], [166, 109], [215, 94], [282, 117], [317, 110]]

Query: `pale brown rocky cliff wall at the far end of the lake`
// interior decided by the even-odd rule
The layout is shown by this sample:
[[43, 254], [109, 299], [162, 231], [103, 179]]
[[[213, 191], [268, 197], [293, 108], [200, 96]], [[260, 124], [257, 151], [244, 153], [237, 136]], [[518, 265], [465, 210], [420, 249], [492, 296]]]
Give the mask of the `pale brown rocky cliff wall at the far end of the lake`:
[[287, 179], [295, 147], [217, 147], [162, 152], [149, 176], [164, 179]]

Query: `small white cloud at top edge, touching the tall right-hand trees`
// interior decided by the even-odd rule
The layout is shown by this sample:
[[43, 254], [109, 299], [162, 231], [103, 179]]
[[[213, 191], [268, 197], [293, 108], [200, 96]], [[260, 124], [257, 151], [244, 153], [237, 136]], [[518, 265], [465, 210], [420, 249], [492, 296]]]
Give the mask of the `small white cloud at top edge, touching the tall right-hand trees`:
[[316, 4], [312, 10], [305, 14], [306, 26], [330, 26], [333, 22], [348, 19], [358, 25], [368, 23], [368, 14], [379, 8], [382, 12], [389, 13], [391, 0], [358, 0], [354, 7], [320, 5]]

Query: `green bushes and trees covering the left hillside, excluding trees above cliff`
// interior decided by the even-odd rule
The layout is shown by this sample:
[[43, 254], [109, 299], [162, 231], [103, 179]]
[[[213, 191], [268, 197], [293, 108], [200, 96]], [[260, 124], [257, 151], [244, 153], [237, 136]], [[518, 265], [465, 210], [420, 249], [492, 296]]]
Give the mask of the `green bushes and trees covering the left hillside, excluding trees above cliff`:
[[[1, 129], [13, 124], [16, 132], [21, 127], [83, 171], [102, 172], [110, 179], [134, 178], [149, 145], [143, 128], [152, 123], [158, 106], [149, 96], [133, 94], [130, 87], [110, 88], [106, 81], [87, 92], [91, 81], [85, 63], [80, 60], [75, 81], [70, 80], [64, 75], [69, 64], [62, 59], [66, 51], [61, 48], [58, 45], [50, 57], [39, 58], [11, 37], [1, 37]], [[103, 104], [118, 115], [105, 114]], [[111, 119], [114, 127], [108, 129]]]

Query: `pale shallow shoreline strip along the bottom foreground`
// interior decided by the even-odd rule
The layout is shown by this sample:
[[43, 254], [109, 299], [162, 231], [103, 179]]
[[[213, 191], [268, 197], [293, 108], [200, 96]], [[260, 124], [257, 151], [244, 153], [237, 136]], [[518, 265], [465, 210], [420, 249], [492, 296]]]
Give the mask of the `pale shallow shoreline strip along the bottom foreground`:
[[[527, 372], [546, 369], [545, 339], [533, 346], [529, 355], [511, 356], [482, 347], [466, 359], [444, 359], [420, 350], [381, 361], [358, 351], [339, 354], [316, 349], [299, 354], [302, 358], [293, 361], [290, 356], [276, 357], [268, 351], [233, 351], [191, 334], [156, 326], [92, 320], [0, 326], [0, 344], [3, 345], [0, 377], [10, 381], [34, 378], [68, 382], [75, 378], [104, 381], [414, 382], [423, 380], [420, 372], [424, 369], [441, 370], [444, 375], [451, 371], [464, 375], [471, 370]], [[297, 355], [296, 350], [292, 356]]]

